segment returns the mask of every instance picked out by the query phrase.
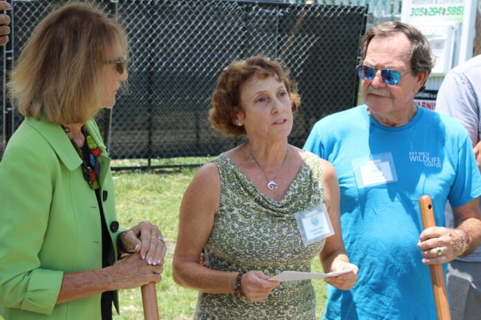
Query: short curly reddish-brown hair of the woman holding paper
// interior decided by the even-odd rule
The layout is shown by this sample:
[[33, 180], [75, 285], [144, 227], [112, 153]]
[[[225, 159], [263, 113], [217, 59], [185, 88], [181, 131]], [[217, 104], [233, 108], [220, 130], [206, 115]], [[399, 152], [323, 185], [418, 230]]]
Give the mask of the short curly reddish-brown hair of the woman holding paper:
[[301, 97], [297, 86], [289, 77], [289, 72], [278, 61], [270, 60], [263, 55], [249, 57], [245, 61], [234, 61], [220, 74], [217, 87], [212, 95], [212, 108], [209, 110], [209, 121], [212, 128], [225, 135], [243, 136], [244, 126], [236, 126], [234, 117], [236, 108], [241, 104], [241, 85], [254, 76], [265, 79], [278, 77], [289, 94], [292, 112], [301, 105]]

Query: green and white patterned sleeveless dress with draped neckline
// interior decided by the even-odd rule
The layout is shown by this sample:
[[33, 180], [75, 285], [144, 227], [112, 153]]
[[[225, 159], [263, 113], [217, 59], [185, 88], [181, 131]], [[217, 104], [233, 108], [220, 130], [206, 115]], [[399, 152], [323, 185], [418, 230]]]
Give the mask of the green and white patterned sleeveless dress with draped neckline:
[[[270, 277], [284, 270], [310, 271], [325, 240], [304, 246], [294, 214], [324, 202], [320, 159], [306, 152], [299, 172], [281, 201], [258, 191], [225, 155], [214, 163], [220, 173], [220, 206], [205, 245], [213, 270], [261, 270]], [[235, 294], [200, 292], [194, 319], [315, 319], [310, 280], [285, 281], [264, 301], [237, 301]]]

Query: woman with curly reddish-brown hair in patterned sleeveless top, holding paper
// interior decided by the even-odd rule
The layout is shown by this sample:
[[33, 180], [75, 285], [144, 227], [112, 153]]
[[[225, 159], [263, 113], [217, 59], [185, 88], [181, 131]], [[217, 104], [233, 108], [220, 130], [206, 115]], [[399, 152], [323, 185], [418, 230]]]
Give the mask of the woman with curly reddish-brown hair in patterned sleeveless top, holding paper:
[[[350, 270], [326, 282], [354, 286], [358, 269], [341, 237], [334, 168], [287, 143], [300, 97], [280, 63], [234, 61], [212, 101], [212, 126], [247, 142], [202, 166], [187, 188], [173, 277], [200, 292], [195, 319], [315, 319], [310, 280], [270, 278], [309, 272], [319, 255], [326, 271]], [[319, 234], [329, 230], [319, 225], [323, 217], [330, 237]]]

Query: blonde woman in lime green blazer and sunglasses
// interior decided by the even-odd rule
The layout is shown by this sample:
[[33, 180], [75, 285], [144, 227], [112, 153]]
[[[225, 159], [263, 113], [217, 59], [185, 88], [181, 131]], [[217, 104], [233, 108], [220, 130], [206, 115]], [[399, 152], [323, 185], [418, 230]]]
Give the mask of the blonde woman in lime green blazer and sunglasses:
[[117, 289], [161, 279], [162, 234], [147, 221], [121, 232], [93, 121], [127, 79], [126, 50], [118, 23], [73, 3], [39, 23], [12, 72], [25, 120], [0, 163], [5, 320], [112, 319]]

